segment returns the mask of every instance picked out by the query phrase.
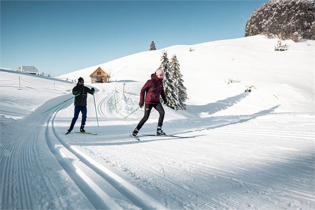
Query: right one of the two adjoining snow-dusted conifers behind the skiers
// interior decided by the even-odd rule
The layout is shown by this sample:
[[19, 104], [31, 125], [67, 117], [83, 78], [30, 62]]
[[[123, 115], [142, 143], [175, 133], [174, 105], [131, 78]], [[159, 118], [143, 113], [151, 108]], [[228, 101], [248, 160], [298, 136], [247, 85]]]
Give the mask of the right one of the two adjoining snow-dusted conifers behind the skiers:
[[187, 100], [187, 89], [184, 86], [183, 75], [180, 71], [180, 64], [178, 63], [176, 55], [171, 59], [171, 70], [174, 76], [174, 87], [176, 95], [175, 109], [186, 109], [185, 101]]

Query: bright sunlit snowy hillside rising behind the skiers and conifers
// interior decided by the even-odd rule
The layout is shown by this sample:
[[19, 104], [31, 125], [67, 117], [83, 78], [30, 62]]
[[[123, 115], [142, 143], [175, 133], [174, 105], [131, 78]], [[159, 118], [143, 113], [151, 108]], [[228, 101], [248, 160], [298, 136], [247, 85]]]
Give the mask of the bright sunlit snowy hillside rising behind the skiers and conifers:
[[[219, 115], [251, 114], [262, 108], [280, 105], [276, 112], [314, 112], [314, 53], [315, 42], [304, 40], [289, 45], [284, 52], [274, 51], [277, 39], [262, 35], [221, 40], [197, 45], [172, 46], [156, 51], [141, 52], [111, 62], [62, 75], [90, 81], [89, 75], [101, 67], [110, 72], [112, 81], [128, 93], [139, 89], [160, 65], [162, 51], [169, 59], [176, 54], [181, 65], [189, 105], [206, 105], [244, 92], [254, 86], [250, 97]], [[189, 51], [189, 48], [193, 51]], [[240, 83], [228, 84], [228, 80]], [[237, 108], [237, 110], [236, 110]], [[241, 112], [239, 111], [241, 109]], [[190, 110], [188, 107], [188, 112]]]

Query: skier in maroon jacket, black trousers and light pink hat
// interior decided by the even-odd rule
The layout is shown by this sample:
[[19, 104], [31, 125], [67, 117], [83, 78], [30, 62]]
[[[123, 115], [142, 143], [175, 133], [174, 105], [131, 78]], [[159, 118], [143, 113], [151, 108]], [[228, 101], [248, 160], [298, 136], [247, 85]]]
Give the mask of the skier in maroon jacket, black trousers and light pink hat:
[[[160, 96], [162, 96], [164, 103], [167, 102], [166, 95], [163, 88], [163, 76], [164, 72], [161, 69], [155, 71], [151, 74], [151, 79], [149, 79], [142, 87], [140, 91], [140, 102], [139, 106], [142, 108], [144, 105], [144, 116], [140, 120], [137, 127], [132, 132], [132, 136], [136, 136], [139, 130], [142, 128], [144, 123], [149, 119], [151, 109], [154, 107], [160, 114], [158, 127], [156, 130], [157, 135], [165, 135], [162, 131], [162, 125], [164, 120], [164, 109], [160, 103]], [[145, 94], [145, 97], [144, 97]]]

